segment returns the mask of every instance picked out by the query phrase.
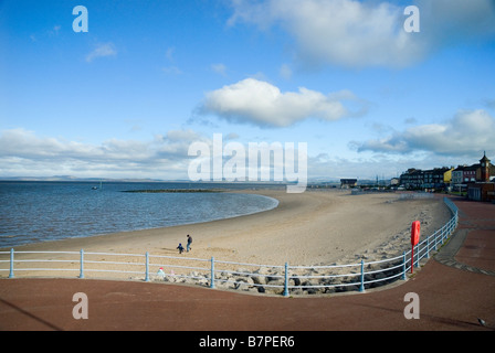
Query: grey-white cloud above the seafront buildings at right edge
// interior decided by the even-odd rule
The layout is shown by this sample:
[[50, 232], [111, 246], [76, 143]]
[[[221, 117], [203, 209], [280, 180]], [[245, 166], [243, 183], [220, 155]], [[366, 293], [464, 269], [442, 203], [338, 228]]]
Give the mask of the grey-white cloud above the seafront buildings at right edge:
[[493, 150], [495, 118], [483, 109], [461, 110], [443, 124], [420, 125], [383, 139], [358, 145], [358, 151], [409, 153], [426, 151], [443, 156], [477, 156]]

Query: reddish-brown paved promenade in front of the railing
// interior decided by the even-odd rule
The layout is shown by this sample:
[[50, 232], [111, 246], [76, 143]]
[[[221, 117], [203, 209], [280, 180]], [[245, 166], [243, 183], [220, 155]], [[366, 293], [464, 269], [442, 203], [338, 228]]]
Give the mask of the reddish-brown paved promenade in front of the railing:
[[[495, 204], [453, 201], [460, 226], [452, 239], [412, 278], [387, 289], [283, 298], [164, 284], [1, 279], [0, 330], [495, 330]], [[87, 320], [72, 315], [75, 292], [87, 295]], [[419, 297], [419, 319], [404, 318], [409, 292]]]

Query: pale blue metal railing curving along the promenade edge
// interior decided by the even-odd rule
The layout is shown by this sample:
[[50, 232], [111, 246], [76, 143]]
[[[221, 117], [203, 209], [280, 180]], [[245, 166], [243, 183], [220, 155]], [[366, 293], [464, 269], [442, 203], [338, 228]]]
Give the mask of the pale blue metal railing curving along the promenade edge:
[[[9, 272], [14, 278], [20, 271], [39, 271], [44, 276], [64, 277], [67, 271], [78, 278], [112, 278], [162, 280], [183, 282], [209, 288], [241, 289], [268, 292], [285, 297], [302, 293], [328, 293], [365, 291], [407, 279], [407, 274], [418, 267], [420, 260], [429, 258], [431, 252], [452, 235], [459, 222], [457, 207], [444, 197], [452, 217], [440, 229], [415, 245], [414, 250], [383, 260], [334, 265], [334, 266], [283, 266], [256, 265], [233, 261], [158, 256], [146, 254], [114, 254], [84, 252], [0, 252], [0, 274]], [[411, 257], [411, 254], [413, 256]], [[32, 258], [32, 256], [41, 258]], [[7, 259], [4, 259], [7, 258]], [[60, 264], [64, 264], [60, 267]], [[8, 265], [8, 266], [6, 266]], [[39, 267], [42, 266], [42, 267]], [[53, 275], [55, 272], [55, 275]], [[64, 274], [64, 275], [62, 275]], [[129, 277], [130, 276], [130, 277]]]

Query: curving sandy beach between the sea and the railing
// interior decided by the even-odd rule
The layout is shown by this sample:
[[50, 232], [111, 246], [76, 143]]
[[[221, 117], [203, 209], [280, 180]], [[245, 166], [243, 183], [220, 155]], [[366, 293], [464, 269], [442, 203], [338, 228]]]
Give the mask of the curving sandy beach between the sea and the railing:
[[208, 223], [124, 232], [19, 246], [15, 250], [108, 252], [283, 265], [329, 265], [381, 259], [410, 248], [410, 226], [421, 221], [422, 238], [451, 216], [441, 197], [401, 200], [394, 193], [352, 195], [341, 190], [238, 191], [278, 200], [271, 211]]

